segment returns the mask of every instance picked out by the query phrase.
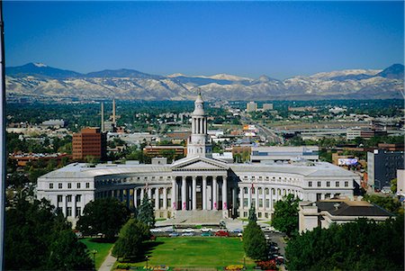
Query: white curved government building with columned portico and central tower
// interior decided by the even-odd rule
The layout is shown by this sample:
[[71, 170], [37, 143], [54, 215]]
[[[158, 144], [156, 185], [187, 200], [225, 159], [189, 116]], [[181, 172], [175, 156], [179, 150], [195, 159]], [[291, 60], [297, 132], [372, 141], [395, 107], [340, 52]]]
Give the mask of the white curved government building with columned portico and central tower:
[[326, 162], [265, 165], [213, 159], [201, 95], [194, 104], [186, 158], [170, 165], [70, 164], [40, 176], [38, 198], [49, 199], [70, 221], [94, 199], [116, 197], [137, 207], [144, 194], [155, 204], [157, 218], [247, 218], [253, 204], [258, 219], [268, 220], [275, 202], [286, 194], [304, 201], [353, 196], [360, 183], [359, 176]]

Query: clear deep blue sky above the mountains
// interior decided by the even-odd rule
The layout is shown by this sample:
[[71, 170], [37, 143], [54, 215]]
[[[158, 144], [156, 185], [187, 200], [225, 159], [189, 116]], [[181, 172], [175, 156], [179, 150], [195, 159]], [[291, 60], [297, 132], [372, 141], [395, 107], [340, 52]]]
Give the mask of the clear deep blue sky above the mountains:
[[6, 66], [283, 79], [404, 59], [403, 2], [4, 2]]

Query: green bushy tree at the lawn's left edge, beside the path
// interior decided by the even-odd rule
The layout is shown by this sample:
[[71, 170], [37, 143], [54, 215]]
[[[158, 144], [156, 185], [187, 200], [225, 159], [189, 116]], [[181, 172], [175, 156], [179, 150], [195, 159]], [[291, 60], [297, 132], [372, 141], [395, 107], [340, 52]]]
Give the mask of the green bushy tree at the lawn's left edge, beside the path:
[[112, 249], [112, 255], [123, 259], [135, 259], [143, 256], [145, 251], [143, 241], [149, 239], [148, 225], [135, 219], [130, 219], [122, 226], [120, 235]]

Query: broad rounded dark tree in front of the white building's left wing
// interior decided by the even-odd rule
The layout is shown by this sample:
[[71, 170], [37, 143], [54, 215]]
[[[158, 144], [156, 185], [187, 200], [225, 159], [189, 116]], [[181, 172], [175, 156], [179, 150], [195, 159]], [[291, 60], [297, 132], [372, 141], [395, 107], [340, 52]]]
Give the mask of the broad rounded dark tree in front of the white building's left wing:
[[105, 239], [113, 239], [129, 216], [130, 211], [117, 199], [96, 199], [85, 205], [83, 215], [77, 221], [77, 229], [85, 235], [103, 233]]

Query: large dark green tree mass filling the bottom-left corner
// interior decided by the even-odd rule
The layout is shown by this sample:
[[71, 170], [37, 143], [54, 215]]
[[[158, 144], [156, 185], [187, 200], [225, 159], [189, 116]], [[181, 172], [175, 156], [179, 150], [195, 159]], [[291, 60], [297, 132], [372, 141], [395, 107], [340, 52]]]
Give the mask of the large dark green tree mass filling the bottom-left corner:
[[[91, 270], [93, 262], [71, 224], [49, 201], [20, 199], [6, 211], [6, 270]], [[58, 263], [56, 263], [56, 261]]]

